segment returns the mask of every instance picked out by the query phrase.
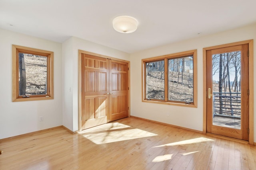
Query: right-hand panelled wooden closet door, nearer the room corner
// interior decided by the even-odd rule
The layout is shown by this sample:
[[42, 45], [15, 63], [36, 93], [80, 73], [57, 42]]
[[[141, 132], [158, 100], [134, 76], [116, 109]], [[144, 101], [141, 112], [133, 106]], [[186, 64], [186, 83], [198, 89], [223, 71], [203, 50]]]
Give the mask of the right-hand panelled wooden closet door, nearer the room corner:
[[128, 117], [128, 63], [109, 60], [110, 121]]

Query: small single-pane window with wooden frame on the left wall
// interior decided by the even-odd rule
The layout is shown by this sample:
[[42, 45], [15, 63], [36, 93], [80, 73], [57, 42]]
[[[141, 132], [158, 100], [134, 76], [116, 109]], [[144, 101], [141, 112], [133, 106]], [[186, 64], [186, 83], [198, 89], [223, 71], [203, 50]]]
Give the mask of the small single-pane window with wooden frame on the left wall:
[[12, 45], [12, 101], [53, 99], [53, 52]]

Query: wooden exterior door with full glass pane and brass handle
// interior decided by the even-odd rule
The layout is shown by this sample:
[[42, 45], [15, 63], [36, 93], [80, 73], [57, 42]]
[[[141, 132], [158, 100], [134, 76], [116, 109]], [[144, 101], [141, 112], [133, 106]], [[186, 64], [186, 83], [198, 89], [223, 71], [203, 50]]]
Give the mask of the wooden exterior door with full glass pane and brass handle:
[[207, 132], [248, 140], [248, 45], [206, 51]]

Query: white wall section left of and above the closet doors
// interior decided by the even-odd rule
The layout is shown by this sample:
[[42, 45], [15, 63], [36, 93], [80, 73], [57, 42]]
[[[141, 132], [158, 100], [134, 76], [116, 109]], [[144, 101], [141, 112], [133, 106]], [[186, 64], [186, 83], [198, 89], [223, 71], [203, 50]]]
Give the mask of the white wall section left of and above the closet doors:
[[[77, 37], [66, 40], [63, 53], [63, 125], [71, 131], [78, 130], [78, 50], [89, 51], [130, 61], [130, 55], [116, 49], [92, 43]], [[66, 74], [68, 72], [68, 74]], [[67, 84], [66, 84], [67, 83]], [[69, 93], [71, 88], [71, 94]]]

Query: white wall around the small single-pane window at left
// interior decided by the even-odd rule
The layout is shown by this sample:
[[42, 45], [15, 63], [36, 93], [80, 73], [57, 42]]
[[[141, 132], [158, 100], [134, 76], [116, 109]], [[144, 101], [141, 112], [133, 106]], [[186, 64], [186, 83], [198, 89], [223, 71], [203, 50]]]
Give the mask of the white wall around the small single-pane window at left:
[[[12, 44], [54, 52], [54, 100], [12, 102]], [[0, 51], [0, 139], [62, 125], [62, 44], [0, 29]]]

